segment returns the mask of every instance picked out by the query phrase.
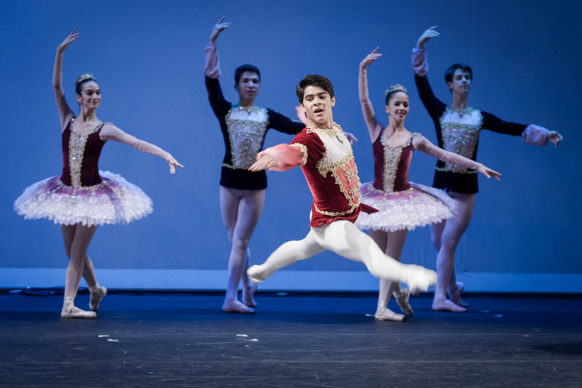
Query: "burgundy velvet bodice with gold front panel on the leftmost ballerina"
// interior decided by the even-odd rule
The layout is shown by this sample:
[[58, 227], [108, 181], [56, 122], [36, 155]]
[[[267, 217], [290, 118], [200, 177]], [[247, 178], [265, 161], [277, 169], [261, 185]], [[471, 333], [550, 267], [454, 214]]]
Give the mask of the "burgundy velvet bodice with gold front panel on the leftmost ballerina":
[[63, 131], [63, 171], [61, 181], [67, 186], [94, 186], [101, 183], [99, 157], [105, 141], [100, 133], [103, 124], [87, 135], [72, 131], [73, 120]]

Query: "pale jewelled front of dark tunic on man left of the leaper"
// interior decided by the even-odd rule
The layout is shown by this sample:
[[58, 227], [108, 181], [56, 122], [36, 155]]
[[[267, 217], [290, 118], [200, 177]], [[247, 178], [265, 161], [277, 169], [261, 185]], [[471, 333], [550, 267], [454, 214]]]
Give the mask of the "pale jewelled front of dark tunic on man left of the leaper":
[[224, 166], [246, 170], [253, 165], [258, 152], [261, 151], [268, 125], [267, 109], [258, 106], [251, 108], [233, 106], [226, 114], [226, 125], [232, 164]]

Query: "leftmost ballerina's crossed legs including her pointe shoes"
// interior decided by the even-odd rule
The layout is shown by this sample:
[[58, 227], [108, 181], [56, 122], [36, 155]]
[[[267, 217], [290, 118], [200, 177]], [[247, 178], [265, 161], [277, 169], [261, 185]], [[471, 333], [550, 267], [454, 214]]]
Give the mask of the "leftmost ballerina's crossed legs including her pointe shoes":
[[[93, 270], [93, 265], [85, 272], [84, 264], [87, 258], [87, 249], [93, 239], [97, 225], [83, 226], [76, 225], [62, 225], [63, 240], [65, 241], [65, 251], [69, 256], [69, 265], [65, 276], [65, 300], [63, 301], [63, 309], [61, 316], [63, 318], [95, 318], [94, 311], [84, 311], [74, 306], [74, 298], [79, 290], [79, 282], [81, 275], [86, 273], [89, 282], [93, 286], [97, 285], [97, 278]], [[91, 273], [92, 271], [92, 273]]]

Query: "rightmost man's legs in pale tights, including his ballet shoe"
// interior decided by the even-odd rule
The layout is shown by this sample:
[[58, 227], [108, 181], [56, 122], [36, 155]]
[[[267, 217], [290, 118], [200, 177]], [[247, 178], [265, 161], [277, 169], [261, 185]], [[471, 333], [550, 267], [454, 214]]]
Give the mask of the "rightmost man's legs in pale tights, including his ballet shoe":
[[[440, 239], [440, 249], [437, 255], [437, 272], [438, 282], [435, 288], [435, 296], [432, 301], [432, 309], [439, 311], [463, 312], [466, 308], [461, 307], [446, 298], [446, 290], [450, 287], [451, 276], [455, 270], [455, 250], [459, 240], [471, 220], [475, 206], [475, 194], [462, 194], [448, 192], [452, 198], [458, 201], [459, 207], [455, 216], [446, 219], [445, 222], [431, 227], [431, 232], [439, 232], [439, 226], [442, 225], [442, 234]], [[438, 236], [433, 236], [433, 241]], [[436, 246], [437, 244], [435, 244]]]

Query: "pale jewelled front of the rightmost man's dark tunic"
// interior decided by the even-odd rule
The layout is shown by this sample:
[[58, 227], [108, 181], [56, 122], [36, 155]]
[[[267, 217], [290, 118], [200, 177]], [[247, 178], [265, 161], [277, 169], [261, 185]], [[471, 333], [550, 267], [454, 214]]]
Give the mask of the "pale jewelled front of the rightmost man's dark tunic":
[[[483, 124], [481, 111], [473, 108], [451, 109], [447, 106], [440, 122], [443, 148], [472, 159]], [[445, 163], [443, 170], [457, 173], [471, 172], [465, 167], [450, 163]]]

